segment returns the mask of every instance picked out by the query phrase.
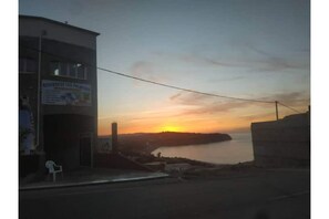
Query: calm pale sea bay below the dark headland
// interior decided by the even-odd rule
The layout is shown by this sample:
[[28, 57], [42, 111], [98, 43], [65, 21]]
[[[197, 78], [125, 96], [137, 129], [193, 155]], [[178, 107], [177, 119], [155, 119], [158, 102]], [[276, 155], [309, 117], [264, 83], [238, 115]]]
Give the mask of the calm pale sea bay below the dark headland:
[[214, 164], [238, 164], [254, 160], [251, 133], [229, 134], [232, 140], [204, 145], [160, 147], [152, 152], [164, 157], [184, 157]]

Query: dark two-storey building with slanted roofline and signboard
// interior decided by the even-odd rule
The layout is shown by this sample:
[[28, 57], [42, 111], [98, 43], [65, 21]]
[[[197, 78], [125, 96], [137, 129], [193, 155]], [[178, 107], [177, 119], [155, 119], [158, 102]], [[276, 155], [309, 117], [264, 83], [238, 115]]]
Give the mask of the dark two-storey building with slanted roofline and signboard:
[[64, 169], [93, 166], [97, 140], [96, 36], [40, 17], [19, 17], [20, 158]]

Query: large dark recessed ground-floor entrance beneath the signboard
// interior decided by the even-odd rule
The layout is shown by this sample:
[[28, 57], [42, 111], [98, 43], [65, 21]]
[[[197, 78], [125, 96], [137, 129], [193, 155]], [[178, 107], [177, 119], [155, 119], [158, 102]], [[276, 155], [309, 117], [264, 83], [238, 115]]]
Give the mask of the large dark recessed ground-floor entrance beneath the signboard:
[[91, 166], [94, 118], [74, 114], [45, 115], [43, 118], [45, 158], [62, 165], [64, 169]]

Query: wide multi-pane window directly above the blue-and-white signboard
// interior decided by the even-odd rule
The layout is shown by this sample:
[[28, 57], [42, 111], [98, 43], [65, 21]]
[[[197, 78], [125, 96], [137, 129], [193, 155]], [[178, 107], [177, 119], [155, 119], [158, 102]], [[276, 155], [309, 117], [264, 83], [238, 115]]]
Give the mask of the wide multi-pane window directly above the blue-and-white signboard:
[[54, 76], [86, 80], [86, 67], [81, 63], [63, 63], [53, 61], [50, 63], [50, 73]]

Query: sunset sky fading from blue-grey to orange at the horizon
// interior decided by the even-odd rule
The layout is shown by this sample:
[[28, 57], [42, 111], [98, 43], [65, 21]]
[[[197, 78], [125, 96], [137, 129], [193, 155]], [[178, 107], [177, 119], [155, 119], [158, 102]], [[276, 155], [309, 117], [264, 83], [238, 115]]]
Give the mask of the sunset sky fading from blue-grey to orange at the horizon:
[[[310, 13], [305, 0], [20, 0], [19, 13], [101, 33], [97, 65], [218, 95], [306, 112]], [[241, 132], [275, 104], [182, 92], [97, 71], [99, 135]], [[295, 112], [279, 106], [279, 116]]]

